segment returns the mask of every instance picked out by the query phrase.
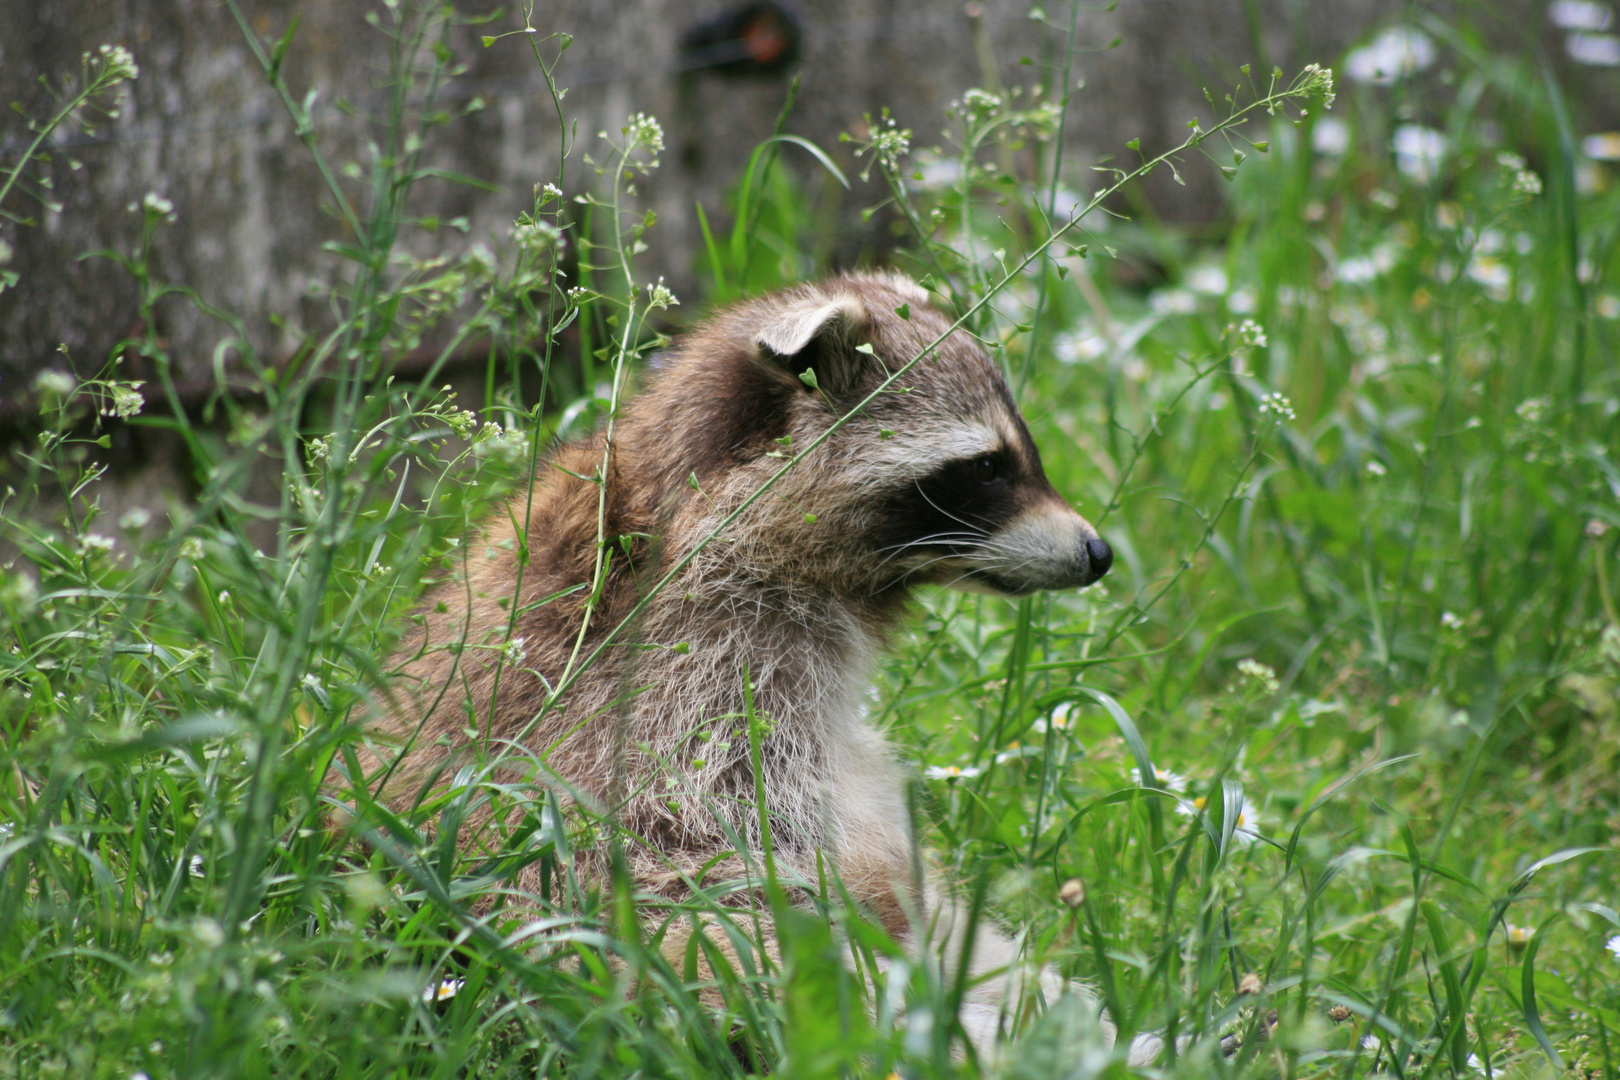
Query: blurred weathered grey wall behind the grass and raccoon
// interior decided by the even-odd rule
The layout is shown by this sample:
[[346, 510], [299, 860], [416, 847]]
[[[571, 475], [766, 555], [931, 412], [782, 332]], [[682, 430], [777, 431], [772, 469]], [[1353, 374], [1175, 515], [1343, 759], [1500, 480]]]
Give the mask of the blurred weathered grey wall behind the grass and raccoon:
[[[580, 133], [567, 164], [572, 191], [586, 181], [582, 155], [596, 131], [617, 130], [637, 110], [664, 121], [663, 168], [642, 191], [659, 215], [645, 270], [667, 275], [677, 291], [688, 285], [700, 249], [693, 202], [721, 212], [724, 191], [770, 133], [787, 86], [786, 73], [735, 78], [679, 70], [685, 28], [727, 3], [557, 0], [536, 5], [535, 13], [541, 34], [575, 37], [557, 68], [559, 83], [569, 87], [570, 123]], [[1497, 21], [1507, 24], [1502, 13], [1529, 3], [1497, 5]], [[319, 91], [316, 131], [334, 167], [363, 165], [366, 141], [382, 130], [389, 49], [366, 15], [387, 23], [387, 10], [363, 0], [241, 0], [241, 8], [266, 39], [300, 21], [288, 81], [298, 94]], [[480, 13], [494, 5], [467, 0], [463, 8]], [[1064, 16], [1063, 3], [1047, 8], [1053, 23]], [[1239, 63], [1251, 62], [1257, 71], [1273, 63], [1288, 71], [1312, 60], [1330, 63], [1356, 36], [1411, 8], [1398, 0], [1124, 0], [1115, 11], [1085, 11], [1081, 29], [1090, 50], [1076, 58], [1085, 89], [1074, 97], [1068, 146], [1076, 185], [1087, 183], [1085, 165], [1097, 154], [1118, 152], [1131, 138], [1140, 136], [1144, 147], [1178, 141], [1187, 118], [1207, 115], [1200, 87], [1230, 86]], [[944, 104], [990, 78], [987, 53], [995, 78], [1008, 84], [1037, 81], [1038, 65], [1058, 62], [1061, 29], [1027, 18], [1029, 0], [987, 0], [969, 10], [982, 26], [977, 49], [974, 19], [954, 0], [804, 0], [797, 63], [804, 87], [789, 130], [849, 164], [838, 134], [863, 112], [886, 105], [915, 130], [919, 142], [933, 142]], [[450, 36], [465, 73], [444, 97], [455, 105], [481, 97], [486, 107], [441, 130], [429, 157], [497, 189], [424, 183], [416, 212], [441, 220], [465, 215], [471, 230], [467, 236], [416, 230], [408, 238], [413, 249], [504, 238], [514, 215], [530, 206], [533, 185], [556, 176], [559, 125], [525, 39], [509, 37], [492, 49], [478, 42], [483, 32], [515, 26], [509, 13], [492, 28], [468, 26]], [[1115, 37], [1119, 47], [1105, 50]], [[49, 99], [37, 76], [78, 71], [79, 53], [102, 42], [128, 45], [141, 65], [122, 115], [96, 138], [75, 134], [55, 147], [49, 173], [60, 212], [26, 206], [13, 193], [10, 209], [34, 212], [39, 225], [0, 223], [23, 279], [0, 295], [0, 413], [18, 406], [44, 364], [63, 363], [58, 347], [76, 369], [94, 372], [120, 335], [138, 329], [139, 303], [128, 274], [107, 259], [78, 256], [130, 249], [141, 223], [126, 206], [147, 191], [173, 201], [178, 215], [156, 241], [156, 274], [237, 313], [264, 355], [285, 355], [301, 330], [324, 319], [309, 283], [332, 275], [334, 257], [321, 244], [342, 240], [343, 227], [227, 6], [220, 0], [0, 0], [0, 97], [44, 113]], [[1037, 66], [1021, 65], [1024, 57]], [[0, 121], [6, 160], [24, 136], [15, 115]], [[70, 159], [83, 167], [71, 168]], [[1150, 196], [1158, 210], [1194, 220], [1217, 214], [1213, 172], [1194, 167], [1187, 181], [1178, 188], [1155, 176]], [[364, 201], [363, 183], [340, 183], [350, 198]], [[842, 199], [838, 253], [849, 259], [873, 240], [860, 235], [855, 210], [880, 193], [875, 183], [857, 183]], [[181, 379], [206, 384], [209, 358], [227, 329], [177, 300], [159, 314]]]

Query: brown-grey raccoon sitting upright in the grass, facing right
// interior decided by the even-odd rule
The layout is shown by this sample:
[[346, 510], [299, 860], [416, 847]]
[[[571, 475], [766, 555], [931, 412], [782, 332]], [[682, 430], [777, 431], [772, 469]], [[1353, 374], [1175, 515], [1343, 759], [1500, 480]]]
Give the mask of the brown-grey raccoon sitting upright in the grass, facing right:
[[[1108, 572], [1108, 544], [1053, 491], [1004, 379], [964, 332], [721, 528], [949, 325], [909, 279], [850, 274], [687, 334], [611, 429], [559, 449], [467, 546], [460, 578], [424, 596], [395, 657], [415, 711], [392, 721], [410, 750], [392, 790], [442, 771], [468, 729], [517, 742], [539, 763], [533, 779], [638, 839], [625, 852], [638, 889], [679, 897], [758, 866], [752, 708], [768, 721], [758, 758], [779, 873], [815, 882], [820, 853], [891, 933], [914, 936], [932, 907], [949, 941], [962, 920], [914, 873], [902, 772], [867, 719], [872, 665], [917, 586], [1085, 586]], [[642, 601], [629, 640], [541, 712]], [[978, 970], [1016, 954], [983, 929], [977, 941]], [[993, 1041], [1004, 986], [969, 1001], [975, 1043]]]

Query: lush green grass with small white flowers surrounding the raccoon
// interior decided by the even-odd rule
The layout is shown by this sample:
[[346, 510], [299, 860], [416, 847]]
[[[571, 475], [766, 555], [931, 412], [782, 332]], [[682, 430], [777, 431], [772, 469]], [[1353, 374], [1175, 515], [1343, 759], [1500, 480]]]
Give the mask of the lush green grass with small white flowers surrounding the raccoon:
[[[1341, 86], [1332, 112], [1256, 117], [1243, 133], [1267, 147], [1231, 144], [1247, 160], [1218, 241], [1098, 210], [969, 314], [1116, 568], [1081, 594], [925, 596], [873, 708], [964, 895], [1124, 1027], [1186, 1038], [1173, 1075], [1620, 1075], [1620, 198], [1578, 189], [1597, 167], [1537, 68], [1430, 29], [1450, 79], [1427, 94]], [[442, 31], [402, 15], [399, 70], [433, 71]], [[434, 78], [400, 79], [397, 154], [369, 183], [326, 164], [356, 223], [337, 327], [287, 369], [246, 356], [262, 408], [130, 419], [173, 427], [196, 470], [196, 504], [156, 536], [97, 518], [86, 444], [117, 372], [42, 387], [0, 507], [21, 552], [0, 580], [0, 1074], [1121, 1075], [1082, 1052], [1071, 1004], [1027, 1017], [1000, 1064], [953, 1054], [957, 973], [875, 973], [894, 944], [836, 882], [776, 913], [789, 976], [732, 915], [740, 960], [705, 989], [622, 891], [567, 874], [609, 824], [488, 771], [408, 813], [361, 806], [364, 840], [334, 824], [327, 777], [355, 766], [423, 578], [556, 432], [611, 408], [565, 387], [656, 342], [648, 296], [622, 288], [658, 238], [619, 212], [643, 130], [593, 151], [588, 207], [530, 219], [598, 267], [588, 293], [549, 288], [544, 228], [492, 267], [392, 259], [421, 168], [405, 136], [447, 120], [407, 91]], [[1343, 155], [1309, 149], [1327, 117]], [[977, 172], [944, 189], [907, 186], [915, 159], [876, 167], [904, 201], [899, 264], [959, 311], [1047, 236], [1061, 118], [969, 107], [941, 157]], [[1430, 180], [1385, 149], [1408, 121], [1448, 136]], [[1178, 168], [1200, 183], [1187, 162], [1231, 146]], [[1064, 180], [1097, 175], [1082, 165]], [[585, 172], [561, 173], [570, 198]], [[744, 191], [758, 232], [716, 228], [716, 293], [808, 266], [786, 173], [761, 157]], [[149, 280], [144, 249], [126, 261], [147, 304], [201, 303]], [[567, 322], [577, 337], [543, 332]], [[437, 374], [387, 382], [420, 340], [489, 340], [476, 415]], [[159, 340], [128, 347], [167, 372]], [[552, 366], [541, 403], [570, 408], [522, 397], [517, 376]], [[256, 507], [264, 461], [285, 495]], [[1139, 787], [1149, 761], [1186, 792]], [[486, 805], [509, 824], [458, 850]], [[551, 892], [515, 895], [536, 861]], [[454, 993], [424, 1001], [439, 980]], [[1223, 1057], [1220, 1035], [1241, 1048]]]

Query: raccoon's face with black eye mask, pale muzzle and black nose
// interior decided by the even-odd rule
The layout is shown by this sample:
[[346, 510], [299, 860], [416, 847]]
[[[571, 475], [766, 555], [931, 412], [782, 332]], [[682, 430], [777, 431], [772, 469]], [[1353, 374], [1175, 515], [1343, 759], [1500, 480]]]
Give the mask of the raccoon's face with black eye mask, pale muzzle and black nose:
[[[826, 415], [870, 393], [949, 322], [906, 279], [850, 277], [784, 309], [757, 342], [787, 371], [815, 366]], [[896, 314], [904, 306], [907, 317]], [[868, 347], [857, 348], [857, 345]], [[815, 398], [820, 398], [816, 402]], [[1113, 551], [1051, 484], [1000, 369], [962, 332], [868, 405], [828, 449], [849, 494], [849, 567], [881, 585], [933, 583], [1025, 596], [1087, 586]], [[808, 479], [808, 478], [807, 478]], [[815, 491], [807, 487], [807, 491]], [[849, 541], [860, 541], [860, 552]]]

